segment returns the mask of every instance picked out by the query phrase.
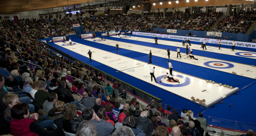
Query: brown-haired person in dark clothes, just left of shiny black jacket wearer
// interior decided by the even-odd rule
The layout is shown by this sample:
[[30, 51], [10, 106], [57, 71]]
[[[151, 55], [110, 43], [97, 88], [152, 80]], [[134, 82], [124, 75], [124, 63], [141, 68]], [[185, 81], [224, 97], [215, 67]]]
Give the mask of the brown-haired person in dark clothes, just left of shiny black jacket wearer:
[[[54, 93], [54, 92], [53, 92]], [[48, 111], [49, 120], [53, 120], [58, 128], [63, 128], [62, 121], [64, 120], [64, 102], [57, 101], [53, 104], [53, 108]]]

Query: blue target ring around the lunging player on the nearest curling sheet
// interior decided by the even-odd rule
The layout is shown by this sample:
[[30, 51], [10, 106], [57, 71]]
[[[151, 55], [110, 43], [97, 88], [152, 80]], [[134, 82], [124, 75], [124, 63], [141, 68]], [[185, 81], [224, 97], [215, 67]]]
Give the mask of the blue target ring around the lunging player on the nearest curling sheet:
[[[161, 75], [159, 77], [156, 77], [156, 81], [161, 81], [163, 79], [163, 77], [166, 76], [166, 75]], [[183, 75], [173, 75], [173, 77], [181, 77], [185, 80], [184, 83], [182, 84], [166, 84], [166, 83], [163, 83], [163, 82], [158, 82], [157, 84], [160, 84], [160, 85], [163, 85], [163, 86], [166, 86], [166, 87], [184, 87], [184, 86], [187, 86], [191, 83], [191, 80], [190, 78], [188, 77], [185, 77]], [[164, 79], [164, 80], [167, 80], [168, 78]]]

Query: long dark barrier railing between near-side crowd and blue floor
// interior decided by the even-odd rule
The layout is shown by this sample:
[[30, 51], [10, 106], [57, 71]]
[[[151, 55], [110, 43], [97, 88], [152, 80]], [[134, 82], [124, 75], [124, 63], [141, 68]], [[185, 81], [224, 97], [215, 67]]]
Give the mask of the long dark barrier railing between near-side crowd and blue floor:
[[[48, 45], [48, 44], [47, 44], [47, 45]], [[148, 94], [147, 92], [142, 91], [141, 89], [138, 89], [137, 87], [134, 87], [134, 86], [132, 86], [132, 85], [130, 85], [130, 84], [128, 84], [128, 83], [122, 81], [122, 80], [119, 80], [118, 78], [113, 77], [113, 76], [111, 76], [111, 75], [105, 73], [105, 72], [102, 71], [102, 70], [99, 70], [99, 69], [97, 69], [97, 68], [95, 68], [95, 67], [93, 67], [93, 66], [90, 66], [90, 65], [88, 65], [87, 63], [85, 63], [85, 62], [83, 62], [83, 61], [81, 61], [81, 60], [78, 60], [78, 59], [74, 58], [73, 56], [70, 56], [69, 54], [66, 54], [66, 53], [62, 52], [61, 50], [59, 50], [59, 49], [53, 47], [52, 45], [48, 45], [48, 46], [49, 46], [50, 49], [54, 50], [55, 52], [58, 52], [59, 54], [62, 54], [63, 56], [65, 56], [65, 57], [71, 59], [72, 61], [76, 60], [76, 61], [81, 62], [80, 64], [82, 64], [83, 66], [85, 66], [85, 68], [87, 68], [88, 70], [100, 71], [100, 72], [102, 73], [102, 75], [103, 75], [102, 77], [103, 77], [104, 79], [106, 79], [106, 80], [108, 80], [109, 82], [112, 82], [112, 83], [114, 83], [115, 81], [116, 81], [117, 83], [121, 83], [121, 84], [122, 84], [121, 87], [122, 87], [124, 90], [126, 90], [126, 91], [128, 91], [129, 93], [131, 93], [131, 94], [133, 94], [133, 95], [135, 95], [135, 96], [137, 96], [137, 97], [143, 99], [144, 101], [147, 101], [148, 103], [150, 103], [152, 99], [155, 100], [156, 105], [157, 105], [158, 103], [161, 103], [161, 101], [162, 101], [160, 98], [157, 98], [156, 96], [153, 96], [153, 95], [151, 95], [151, 94]]]

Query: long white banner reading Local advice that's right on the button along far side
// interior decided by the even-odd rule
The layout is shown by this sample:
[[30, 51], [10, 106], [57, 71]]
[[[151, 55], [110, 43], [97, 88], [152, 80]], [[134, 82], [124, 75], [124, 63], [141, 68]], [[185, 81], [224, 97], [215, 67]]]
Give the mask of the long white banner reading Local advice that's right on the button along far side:
[[[215, 32], [214, 32], [215, 33]], [[179, 36], [179, 35], [165, 35], [165, 34], [158, 34], [158, 33], [142, 33], [142, 32], [133, 32], [133, 35], [143, 35], [143, 36], [150, 36], [150, 37], [159, 37], [159, 38], [168, 38], [168, 39], [175, 39], [175, 40], [190, 40], [193, 42], [203, 42], [206, 40], [207, 43], [211, 44], [219, 44], [220, 39], [211, 39], [211, 38], [197, 38], [191, 36]], [[247, 47], [247, 48], [254, 48], [256, 49], [256, 43], [254, 42], [240, 42], [235, 41], [238, 47]], [[221, 45], [230, 45], [232, 46], [232, 40], [221, 40]]]

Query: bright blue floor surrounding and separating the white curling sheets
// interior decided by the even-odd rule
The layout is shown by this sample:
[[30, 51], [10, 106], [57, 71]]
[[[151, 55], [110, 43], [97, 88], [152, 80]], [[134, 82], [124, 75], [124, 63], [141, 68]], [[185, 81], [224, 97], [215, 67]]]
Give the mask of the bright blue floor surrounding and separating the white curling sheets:
[[[81, 40], [81, 39], [73, 39], [73, 41], [81, 44], [86, 44], [91, 47], [104, 49], [108, 52], [116, 53], [116, 48], [108, 45], [102, 46], [102, 44], [97, 44], [95, 42], [90, 42], [90, 41], [85, 42], [85, 40]], [[242, 89], [241, 91], [239, 91], [239, 93], [237, 93], [238, 95], [232, 94], [231, 96], [223, 99], [225, 103], [215, 104], [216, 106], [215, 108], [209, 108], [205, 111], [203, 108], [200, 108], [201, 106], [198, 105], [197, 103], [193, 103], [190, 100], [187, 100], [185, 98], [172, 94], [168, 91], [165, 91], [164, 89], [156, 87], [152, 84], [144, 82], [140, 79], [137, 79], [125, 73], [122, 73], [122, 74], [116, 73], [116, 70], [114, 68], [110, 68], [109, 66], [103, 65], [96, 61], [92, 61], [91, 63], [89, 59], [86, 58], [85, 56], [77, 54], [76, 52], [72, 52], [61, 46], [55, 45], [53, 42], [49, 42], [49, 44], [62, 50], [63, 52], [68, 53], [69, 55], [75, 58], [79, 58], [79, 60], [85, 63], [95, 66], [96, 68], [103, 70], [104, 72], [116, 78], [119, 78], [120, 80], [123, 80], [124, 82], [127, 82], [128, 84], [132, 84], [133, 86], [139, 89], [142, 89], [143, 91], [146, 91], [149, 94], [152, 94], [156, 97], [161, 98], [162, 103], [166, 103], [170, 106], [174, 106], [180, 109], [186, 108], [188, 110], [192, 110], [194, 113], [204, 112], [204, 115], [206, 116], [217, 117], [217, 118], [222, 118], [226, 120], [235, 120], [239, 122], [251, 122], [251, 123], [256, 121], [256, 119], [254, 118], [254, 113], [256, 112], [256, 106], [255, 106], [255, 100], [254, 100], [256, 95], [255, 84], [252, 84], [250, 87]], [[139, 52], [133, 52], [126, 49], [119, 49], [119, 54], [123, 56], [128, 56], [130, 58], [134, 58], [137, 60], [141, 60], [141, 61], [145, 61], [145, 60], [148, 61], [147, 54], [143, 54]], [[160, 58], [156, 56], [152, 57], [152, 63], [158, 66], [168, 67], [166, 61], [167, 59], [164, 59], [164, 58]], [[212, 70], [209, 68], [202, 68], [199, 66], [194, 66], [187, 63], [181, 63], [178, 61], [173, 61], [172, 63], [174, 66], [174, 70], [176, 71], [187, 73], [189, 75], [193, 75], [193, 76], [204, 78], [204, 79], [208, 79], [209, 77], [211, 77], [216, 82], [222, 82], [225, 84], [229, 83], [233, 87], [242, 88], [255, 81], [254, 79], [250, 79], [247, 77], [241, 77], [239, 75], [224, 73], [224, 72], [221, 72], [218, 70]], [[157, 93], [155, 93], [156, 90], [157, 90]], [[229, 103], [232, 104], [230, 108], [228, 107]], [[250, 107], [249, 110], [248, 110], [248, 107]], [[178, 112], [180, 113], [179, 110]], [[220, 124], [216, 124], [216, 125], [221, 127]], [[228, 124], [226, 124], [225, 126], [226, 128], [232, 127], [231, 124], [230, 126], [228, 126]], [[247, 131], [248, 129], [240, 128], [239, 130]]]

